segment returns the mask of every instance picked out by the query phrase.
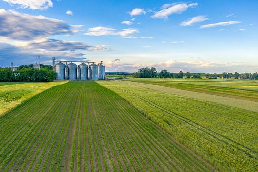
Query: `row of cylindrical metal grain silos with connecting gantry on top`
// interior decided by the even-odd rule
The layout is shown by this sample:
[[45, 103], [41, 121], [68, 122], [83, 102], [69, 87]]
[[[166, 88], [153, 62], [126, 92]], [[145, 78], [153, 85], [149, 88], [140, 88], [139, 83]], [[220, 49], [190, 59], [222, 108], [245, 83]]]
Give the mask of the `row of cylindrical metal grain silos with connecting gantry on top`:
[[[105, 80], [105, 66], [103, 61], [98, 65], [95, 62], [84, 61], [57, 61], [53, 59], [53, 71], [57, 80]], [[55, 62], [59, 62], [55, 64]], [[62, 63], [66, 62], [66, 64]], [[69, 64], [67, 64], [67, 62]], [[77, 65], [76, 65], [77, 63]], [[81, 63], [81, 64], [79, 64]], [[85, 63], [88, 63], [85, 64]], [[92, 63], [90, 65], [90, 63]]]

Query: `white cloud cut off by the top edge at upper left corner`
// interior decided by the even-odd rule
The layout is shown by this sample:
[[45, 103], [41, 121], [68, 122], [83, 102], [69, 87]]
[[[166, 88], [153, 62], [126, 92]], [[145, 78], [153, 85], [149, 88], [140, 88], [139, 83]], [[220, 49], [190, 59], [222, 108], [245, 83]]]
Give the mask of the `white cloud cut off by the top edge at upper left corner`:
[[3, 0], [10, 4], [18, 4], [20, 8], [30, 8], [30, 9], [41, 9], [45, 10], [49, 7], [53, 7], [51, 0]]

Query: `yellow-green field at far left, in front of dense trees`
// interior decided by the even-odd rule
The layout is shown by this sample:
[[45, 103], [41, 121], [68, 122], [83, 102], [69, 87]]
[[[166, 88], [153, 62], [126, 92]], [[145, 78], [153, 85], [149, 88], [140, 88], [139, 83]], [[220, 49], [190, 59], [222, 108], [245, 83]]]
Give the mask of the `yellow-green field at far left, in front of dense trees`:
[[66, 82], [0, 82], [0, 117], [34, 95]]

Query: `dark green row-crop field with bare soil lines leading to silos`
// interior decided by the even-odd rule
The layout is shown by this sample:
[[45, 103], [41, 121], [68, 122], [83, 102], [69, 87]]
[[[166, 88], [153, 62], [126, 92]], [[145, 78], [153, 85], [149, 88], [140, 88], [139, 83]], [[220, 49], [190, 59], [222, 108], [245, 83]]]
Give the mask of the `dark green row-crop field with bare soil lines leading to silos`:
[[94, 81], [52, 87], [0, 118], [0, 171], [215, 170], [143, 114]]

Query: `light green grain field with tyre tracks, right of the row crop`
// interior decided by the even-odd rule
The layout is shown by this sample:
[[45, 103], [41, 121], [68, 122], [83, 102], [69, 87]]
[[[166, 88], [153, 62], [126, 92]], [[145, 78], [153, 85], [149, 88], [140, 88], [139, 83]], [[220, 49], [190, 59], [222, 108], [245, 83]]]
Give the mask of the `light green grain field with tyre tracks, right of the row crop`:
[[219, 171], [258, 171], [258, 113], [115, 81], [97, 81]]

